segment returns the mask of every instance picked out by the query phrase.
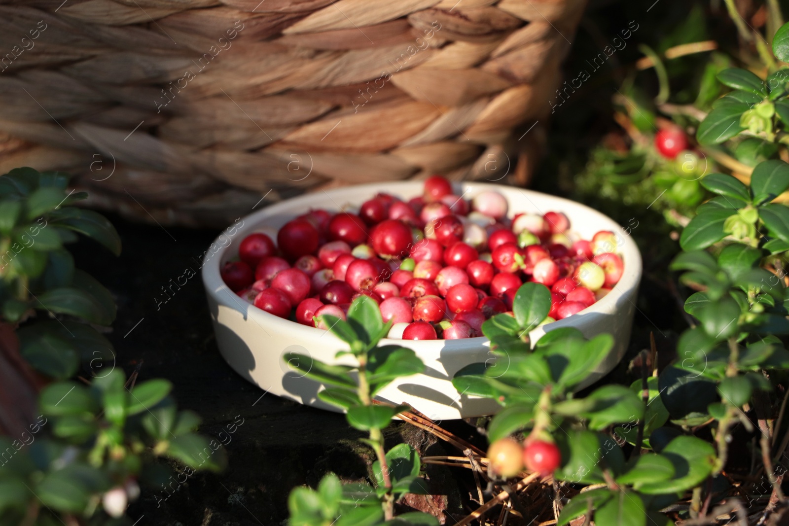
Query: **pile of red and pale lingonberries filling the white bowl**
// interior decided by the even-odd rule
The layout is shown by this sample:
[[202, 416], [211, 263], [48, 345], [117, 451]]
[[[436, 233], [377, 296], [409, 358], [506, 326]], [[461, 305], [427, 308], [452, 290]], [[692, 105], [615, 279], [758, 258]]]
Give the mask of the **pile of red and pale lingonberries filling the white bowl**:
[[308, 326], [326, 329], [321, 315], [345, 319], [363, 294], [394, 321], [390, 338], [472, 338], [485, 319], [512, 310], [523, 282], [551, 289], [552, 319], [589, 307], [619, 282], [615, 234], [584, 241], [569, 228], [559, 212], [510, 220], [499, 192], [469, 203], [433, 176], [408, 201], [382, 193], [357, 213], [312, 210], [282, 226], [276, 244], [252, 233], [222, 279], [257, 308]]

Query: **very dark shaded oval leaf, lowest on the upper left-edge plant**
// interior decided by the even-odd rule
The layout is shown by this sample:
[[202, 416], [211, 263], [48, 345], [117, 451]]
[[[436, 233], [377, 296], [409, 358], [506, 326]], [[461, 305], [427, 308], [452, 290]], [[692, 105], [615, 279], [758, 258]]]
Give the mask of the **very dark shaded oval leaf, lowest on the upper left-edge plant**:
[[54, 379], [67, 379], [77, 372], [77, 349], [64, 338], [42, 330], [28, 330], [21, 340], [20, 353], [37, 371]]

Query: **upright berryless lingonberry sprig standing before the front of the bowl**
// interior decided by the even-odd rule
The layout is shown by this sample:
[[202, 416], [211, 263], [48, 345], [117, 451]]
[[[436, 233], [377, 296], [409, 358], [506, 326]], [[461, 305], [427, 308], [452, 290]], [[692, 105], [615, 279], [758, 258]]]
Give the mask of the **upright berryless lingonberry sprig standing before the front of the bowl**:
[[[357, 297], [348, 309], [347, 319], [322, 315], [321, 321], [335, 336], [348, 344], [338, 357], [353, 356], [356, 365], [328, 365], [311, 356], [288, 353], [287, 364], [327, 385], [318, 397], [346, 411], [351, 427], [367, 431], [368, 446], [376, 453], [372, 464], [375, 485], [340, 483], [334, 474], [324, 476], [317, 490], [297, 487], [288, 501], [291, 526], [357, 526], [358, 524], [438, 524], [426, 513], [404, 513], [394, 518], [394, 503], [406, 493], [427, 493], [419, 477], [421, 462], [413, 447], [398, 444], [386, 451], [383, 429], [406, 406], [373, 403], [383, 387], [401, 376], [424, 371], [422, 360], [412, 349], [399, 345], [378, 345], [391, 328], [383, 323], [375, 300]], [[356, 373], [355, 378], [352, 373]]]

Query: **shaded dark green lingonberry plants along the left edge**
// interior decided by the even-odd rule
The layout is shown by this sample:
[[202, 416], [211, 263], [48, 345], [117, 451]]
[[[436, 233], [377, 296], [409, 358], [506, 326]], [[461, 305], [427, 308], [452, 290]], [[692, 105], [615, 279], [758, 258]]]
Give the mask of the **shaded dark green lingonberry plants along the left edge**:
[[135, 385], [116, 367], [95, 328], [113, 323], [114, 300], [74, 268], [65, 244], [81, 233], [117, 255], [121, 240], [102, 215], [70, 206], [85, 194], [67, 194], [68, 181], [30, 168], [0, 177], [0, 357], [15, 367], [0, 394], [41, 390], [40, 413], [9, 405], [0, 421], [0, 524], [118, 524], [138, 481], [168, 482], [157, 457], [190, 469], [224, 463], [194, 432], [200, 418], [178, 412], [170, 382]]

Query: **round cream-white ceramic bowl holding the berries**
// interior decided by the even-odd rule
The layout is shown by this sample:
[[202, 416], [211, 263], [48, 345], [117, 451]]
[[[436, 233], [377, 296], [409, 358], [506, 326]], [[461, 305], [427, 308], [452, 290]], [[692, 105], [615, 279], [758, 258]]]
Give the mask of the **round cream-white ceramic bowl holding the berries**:
[[[561, 211], [570, 218], [570, 229], [584, 239], [590, 239], [599, 230], [612, 230], [622, 239], [621, 252], [625, 264], [624, 274], [607, 296], [591, 307], [567, 319], [539, 327], [529, 336], [537, 341], [545, 331], [573, 326], [587, 337], [608, 332], [615, 345], [603, 364], [589, 371], [588, 386], [606, 375], [622, 360], [630, 339], [633, 324], [638, 282], [641, 279], [641, 255], [634, 241], [610, 218], [584, 205], [555, 196], [530, 192], [522, 188], [481, 183], [466, 183], [456, 188], [458, 195], [471, 199], [478, 193], [496, 190], [507, 197], [510, 217], [515, 212], [543, 214]], [[392, 182], [337, 188], [315, 192], [266, 207], [243, 218], [243, 223], [229, 237], [217, 238], [207, 253], [203, 266], [203, 282], [208, 293], [211, 319], [214, 323], [217, 345], [225, 360], [238, 374], [262, 387], [271, 394], [290, 398], [305, 405], [336, 411], [316, 397], [322, 389], [319, 383], [305, 378], [288, 367], [282, 356], [301, 353], [328, 364], [353, 364], [350, 356], [335, 359], [335, 353], [346, 349], [346, 344], [333, 334], [278, 318], [246, 303], [237, 297], [219, 276], [223, 263], [237, 256], [238, 244], [248, 234], [256, 231], [275, 233], [280, 226], [311, 208], [339, 211], [344, 207], [358, 207], [376, 192], [388, 192], [402, 198], [418, 196], [421, 182]], [[230, 243], [228, 243], [228, 238]], [[272, 237], [276, 240], [276, 236]], [[225, 246], [222, 246], [225, 245]], [[216, 248], [219, 247], [217, 250]], [[449, 420], [469, 416], [488, 415], [499, 405], [484, 398], [458, 394], [451, 383], [456, 371], [468, 364], [485, 362], [491, 358], [486, 338], [464, 340], [408, 341], [385, 339], [382, 345], [398, 344], [413, 349], [426, 366], [424, 373], [398, 379], [381, 391], [378, 397], [392, 403], [407, 403], [433, 420]]]

